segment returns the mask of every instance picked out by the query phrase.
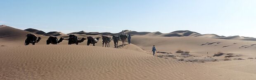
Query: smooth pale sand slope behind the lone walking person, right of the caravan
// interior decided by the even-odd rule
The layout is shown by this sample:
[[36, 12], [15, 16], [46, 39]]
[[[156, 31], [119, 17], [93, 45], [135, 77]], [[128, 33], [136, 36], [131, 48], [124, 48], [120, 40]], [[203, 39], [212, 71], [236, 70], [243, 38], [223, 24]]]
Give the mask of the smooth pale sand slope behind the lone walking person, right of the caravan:
[[[243, 40], [223, 40], [213, 38], [200, 37], [142, 37], [134, 36], [132, 43], [151, 53], [151, 48], [156, 45], [159, 52], [175, 53], [171, 55], [182, 56], [176, 51], [189, 51], [191, 55], [197, 56], [195, 59], [200, 59], [208, 56], [213, 56], [218, 52], [232, 53], [235, 55], [242, 55], [235, 58], [247, 59], [249, 57], [256, 57], [256, 42]], [[214, 59], [225, 59], [223, 56], [213, 57]]]

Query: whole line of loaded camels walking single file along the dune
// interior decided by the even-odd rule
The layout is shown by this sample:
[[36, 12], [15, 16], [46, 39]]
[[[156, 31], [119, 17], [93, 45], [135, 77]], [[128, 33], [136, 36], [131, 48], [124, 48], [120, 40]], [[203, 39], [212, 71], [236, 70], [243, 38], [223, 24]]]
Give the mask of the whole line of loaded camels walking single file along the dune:
[[[30, 43], [32, 43], [32, 45], [35, 45], [35, 43], [38, 43], [41, 38], [36, 36], [33, 33], [29, 33], [26, 35], [26, 40], [25, 40], [25, 45], [29, 45]], [[125, 41], [128, 38], [127, 35], [112, 35], [112, 39], [114, 40], [114, 48], [118, 48], [118, 42], [119, 40], [122, 41], [122, 47], [126, 45]], [[57, 45], [60, 42], [62, 42], [64, 40], [64, 38], [58, 38], [56, 36], [50, 36], [47, 40], [46, 40], [46, 45]], [[78, 39], [78, 37], [76, 35], [70, 34], [69, 35], [69, 39], [68, 39], [68, 45], [72, 45], [72, 44], [76, 44], [78, 45], [78, 43], [83, 42], [84, 40], [86, 40], [86, 38], [82, 38], [81, 40]], [[93, 46], [95, 46], [95, 43], [99, 42], [100, 38], [97, 37], [93, 37], [93, 36], [88, 36], [87, 37], [87, 45], [93, 44]], [[109, 43], [111, 42], [111, 38], [107, 35], [103, 35], [102, 36], [102, 47], [109, 47]]]

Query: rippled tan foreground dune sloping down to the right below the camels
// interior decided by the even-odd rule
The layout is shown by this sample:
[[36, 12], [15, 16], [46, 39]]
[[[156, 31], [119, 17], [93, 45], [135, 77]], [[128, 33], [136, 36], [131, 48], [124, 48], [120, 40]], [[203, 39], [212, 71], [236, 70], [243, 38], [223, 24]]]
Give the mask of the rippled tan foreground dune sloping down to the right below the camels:
[[126, 49], [76, 45], [35, 45], [0, 49], [2, 51], [0, 53], [1, 79], [240, 80], [256, 78], [252, 73], [168, 60]]

